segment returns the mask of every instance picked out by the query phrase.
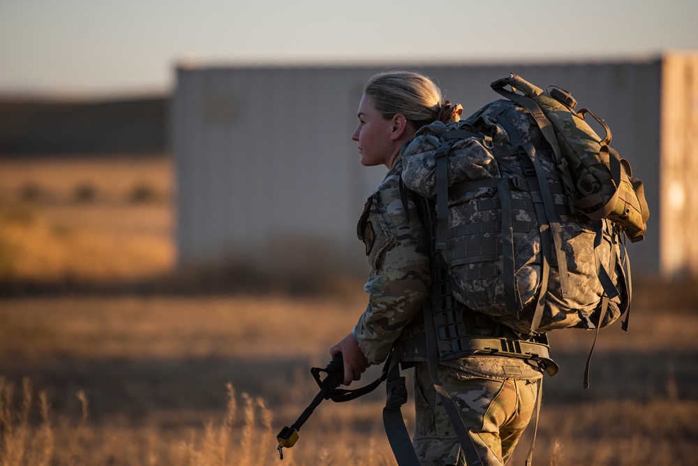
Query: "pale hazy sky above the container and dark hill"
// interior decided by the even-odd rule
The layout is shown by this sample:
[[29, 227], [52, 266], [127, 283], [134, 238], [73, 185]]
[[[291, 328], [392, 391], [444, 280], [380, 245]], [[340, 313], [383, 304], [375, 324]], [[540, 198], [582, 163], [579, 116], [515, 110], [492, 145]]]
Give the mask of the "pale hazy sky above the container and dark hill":
[[698, 52], [696, 0], [0, 0], [0, 95], [167, 93], [186, 66]]

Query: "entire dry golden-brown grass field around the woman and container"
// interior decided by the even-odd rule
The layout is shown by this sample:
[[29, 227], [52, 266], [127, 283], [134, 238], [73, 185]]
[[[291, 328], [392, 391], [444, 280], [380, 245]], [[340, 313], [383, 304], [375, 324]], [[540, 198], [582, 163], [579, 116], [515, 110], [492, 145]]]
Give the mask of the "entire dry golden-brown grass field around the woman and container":
[[[200, 271], [172, 272], [171, 172], [164, 157], [0, 160], [0, 465], [395, 465], [383, 387], [322, 403], [279, 460], [362, 283], [288, 293], [229, 270], [202, 289]], [[695, 464], [698, 291], [634, 291], [588, 390], [593, 335], [551, 335], [563, 368], [544, 381], [535, 464]]]

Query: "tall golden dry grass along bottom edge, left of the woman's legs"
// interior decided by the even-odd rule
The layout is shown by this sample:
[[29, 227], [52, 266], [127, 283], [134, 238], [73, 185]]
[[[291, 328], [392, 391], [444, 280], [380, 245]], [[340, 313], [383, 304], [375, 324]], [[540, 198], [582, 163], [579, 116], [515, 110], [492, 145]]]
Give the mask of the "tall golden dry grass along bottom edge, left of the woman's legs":
[[[133, 449], [133, 439], [109, 432], [111, 438], [99, 432], [98, 425], [89, 420], [87, 395], [79, 391], [80, 421], [54, 425], [46, 393], [38, 393], [40, 421], [33, 402], [31, 381], [24, 378], [20, 399], [14, 387], [0, 377], [0, 465], [172, 465], [172, 466], [265, 466], [275, 464], [272, 412], [260, 396], [242, 393], [239, 397], [232, 384], [227, 384], [228, 403], [220, 419], [209, 419], [202, 428], [188, 435], [159, 437], [150, 432], [144, 449]], [[327, 421], [325, 421], [327, 422]], [[139, 435], [138, 432], [136, 435]], [[392, 459], [376, 447], [371, 439], [358, 449], [347, 444], [335, 444], [322, 438], [318, 429], [315, 437], [304, 439], [306, 456], [295, 457], [296, 451], [285, 451], [283, 465], [392, 465]], [[348, 432], [343, 433], [346, 438]], [[318, 437], [320, 437], [318, 439]], [[121, 443], [121, 442], [126, 442]], [[118, 452], [114, 450], [118, 449]], [[308, 452], [312, 453], [308, 455]]]

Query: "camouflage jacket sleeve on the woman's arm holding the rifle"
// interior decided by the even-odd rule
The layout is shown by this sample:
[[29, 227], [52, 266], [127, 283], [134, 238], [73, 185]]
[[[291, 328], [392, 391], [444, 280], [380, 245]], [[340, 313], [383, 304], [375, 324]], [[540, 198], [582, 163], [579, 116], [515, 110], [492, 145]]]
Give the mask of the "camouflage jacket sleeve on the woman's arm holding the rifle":
[[424, 228], [408, 201], [406, 215], [398, 186], [379, 189], [369, 198], [359, 221], [371, 272], [364, 291], [369, 304], [354, 335], [373, 364], [385, 361], [402, 329], [428, 296], [431, 275]]

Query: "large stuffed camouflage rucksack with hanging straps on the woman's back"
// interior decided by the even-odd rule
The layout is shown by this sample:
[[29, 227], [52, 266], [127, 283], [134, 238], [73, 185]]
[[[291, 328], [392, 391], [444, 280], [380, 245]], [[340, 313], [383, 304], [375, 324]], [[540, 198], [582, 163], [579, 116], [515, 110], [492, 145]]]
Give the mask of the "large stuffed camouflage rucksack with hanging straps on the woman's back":
[[492, 87], [507, 100], [424, 126], [402, 154], [406, 187], [436, 199], [452, 292], [523, 334], [607, 326], [629, 309], [624, 238], [646, 228], [641, 182], [562, 89], [516, 75]]

